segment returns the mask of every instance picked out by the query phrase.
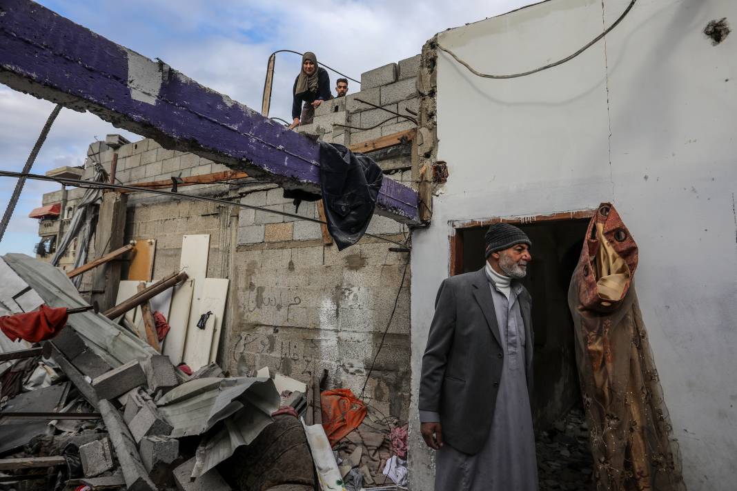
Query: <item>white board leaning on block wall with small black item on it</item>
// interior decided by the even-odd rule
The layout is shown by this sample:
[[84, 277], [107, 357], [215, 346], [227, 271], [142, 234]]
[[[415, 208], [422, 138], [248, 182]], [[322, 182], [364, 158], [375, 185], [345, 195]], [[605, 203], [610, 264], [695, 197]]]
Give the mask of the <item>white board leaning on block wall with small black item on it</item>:
[[[197, 281], [195, 280], [195, 283]], [[204, 367], [211, 361], [211, 356], [217, 354], [217, 346], [213, 340], [217, 336], [218, 343], [220, 342], [220, 328], [223, 326], [223, 314], [225, 313], [230, 280], [226, 278], [203, 278], [201, 282], [203, 284], [201, 297], [197, 310], [195, 310], [195, 305], [192, 305], [184, 345], [184, 362], [192, 370]], [[206, 322], [205, 328], [200, 329], [197, 324], [200, 317], [207, 312], [212, 312], [212, 315]]]

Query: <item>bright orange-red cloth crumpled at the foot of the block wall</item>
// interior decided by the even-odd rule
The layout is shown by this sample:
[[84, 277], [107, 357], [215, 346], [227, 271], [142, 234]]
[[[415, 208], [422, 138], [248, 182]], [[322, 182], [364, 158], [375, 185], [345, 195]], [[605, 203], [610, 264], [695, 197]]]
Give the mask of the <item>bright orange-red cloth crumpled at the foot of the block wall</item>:
[[323, 428], [331, 447], [356, 429], [366, 417], [366, 406], [351, 389], [326, 390], [320, 395], [320, 403]]

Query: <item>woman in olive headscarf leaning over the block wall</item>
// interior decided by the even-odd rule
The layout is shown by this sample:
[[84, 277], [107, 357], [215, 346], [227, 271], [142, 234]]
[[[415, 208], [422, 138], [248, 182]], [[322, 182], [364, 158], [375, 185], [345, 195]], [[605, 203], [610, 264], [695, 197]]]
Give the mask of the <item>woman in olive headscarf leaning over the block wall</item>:
[[294, 121], [289, 125], [290, 129], [300, 124], [310, 124], [315, 116], [315, 108], [323, 101], [332, 99], [330, 77], [325, 68], [318, 66], [315, 53], [306, 52], [302, 55], [302, 69], [294, 81], [292, 94], [292, 119]]

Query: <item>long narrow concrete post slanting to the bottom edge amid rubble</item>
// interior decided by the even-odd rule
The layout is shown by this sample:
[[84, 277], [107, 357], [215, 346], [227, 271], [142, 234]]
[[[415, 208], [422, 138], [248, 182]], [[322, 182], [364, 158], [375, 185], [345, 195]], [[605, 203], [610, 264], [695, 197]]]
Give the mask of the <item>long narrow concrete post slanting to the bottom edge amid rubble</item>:
[[146, 467], [141, 462], [141, 456], [133, 441], [133, 436], [128, 431], [120, 413], [113, 407], [109, 400], [99, 401], [99, 412], [102, 420], [108, 427], [115, 454], [123, 470], [123, 478], [128, 490], [131, 491], [153, 491], [156, 485], [148, 477]]

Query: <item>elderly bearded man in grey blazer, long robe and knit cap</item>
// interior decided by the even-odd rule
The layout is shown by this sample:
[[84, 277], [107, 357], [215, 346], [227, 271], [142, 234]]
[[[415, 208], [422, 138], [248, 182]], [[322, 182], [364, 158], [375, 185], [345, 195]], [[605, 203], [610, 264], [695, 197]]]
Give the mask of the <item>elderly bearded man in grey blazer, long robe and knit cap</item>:
[[537, 490], [531, 297], [519, 282], [530, 246], [522, 230], [496, 223], [486, 265], [440, 285], [419, 389], [436, 491]]

